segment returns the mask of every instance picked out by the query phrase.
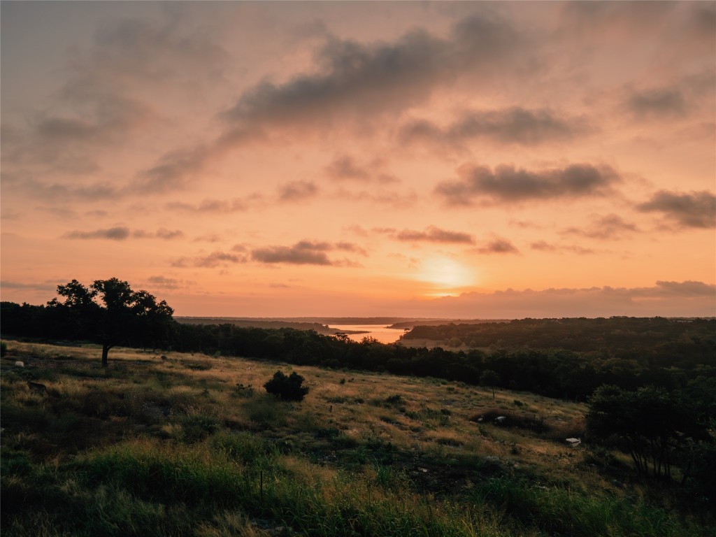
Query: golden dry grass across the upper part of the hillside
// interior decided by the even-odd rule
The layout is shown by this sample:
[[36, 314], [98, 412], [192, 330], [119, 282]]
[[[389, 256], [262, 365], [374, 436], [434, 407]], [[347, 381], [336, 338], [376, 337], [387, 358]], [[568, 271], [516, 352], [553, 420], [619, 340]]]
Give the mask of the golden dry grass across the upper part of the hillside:
[[[543, 465], [548, 458], [559, 460], [560, 466], [574, 460], [567, 464], [570, 471], [576, 470], [576, 455], [584, 449], [570, 448], [564, 442], [583, 428], [584, 405], [528, 393], [498, 390], [493, 399], [491, 390], [436, 379], [124, 348], [112, 349], [110, 367], [105, 371], [99, 355], [100, 349], [93, 345], [9, 342], [2, 362], [4, 371], [14, 369], [15, 360], [21, 357], [25, 376], [34, 373], [42, 379], [52, 372], [57, 377], [42, 381], [49, 393], [46, 401], [16, 379], [6, 380], [7, 375], [3, 388], [9, 389], [6, 394], [11, 393], [20, 405], [49, 407], [83, 401], [84, 410], [74, 410], [84, 413], [92, 413], [93, 400], [99, 407], [104, 398], [104, 406], [95, 412], [101, 417], [110, 422], [133, 418], [144, 425], [157, 425], [170, 436], [180, 434], [182, 425], [175, 422], [178, 416], [193, 414], [211, 415], [229, 427], [263, 429], [272, 437], [299, 442], [312, 442], [316, 431], [320, 435], [334, 430], [354, 442], [380, 440], [399, 450], [432, 450], [445, 458], [469, 454], [506, 458], [520, 465]], [[311, 391], [300, 405], [280, 405], [281, 418], [267, 426], [261, 423], [262, 412], [271, 420], [272, 412], [279, 411], [272, 408], [274, 403], [261, 399], [263, 383], [279, 368], [286, 373], [299, 372]], [[241, 397], [237, 384], [251, 386], [253, 395]], [[104, 397], [107, 394], [109, 397]], [[521, 405], [516, 406], [515, 400]], [[543, 420], [547, 431], [471, 421], [488, 412], [528, 415]]]

